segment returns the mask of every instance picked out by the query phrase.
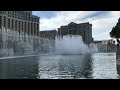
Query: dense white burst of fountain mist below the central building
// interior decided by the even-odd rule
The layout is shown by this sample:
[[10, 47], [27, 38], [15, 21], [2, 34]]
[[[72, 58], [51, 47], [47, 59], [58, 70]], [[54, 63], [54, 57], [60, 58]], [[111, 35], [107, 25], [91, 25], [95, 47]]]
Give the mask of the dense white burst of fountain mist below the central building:
[[97, 45], [93, 43], [89, 46], [86, 45], [80, 35], [66, 35], [55, 39], [56, 54], [86, 54], [94, 52], [98, 52]]

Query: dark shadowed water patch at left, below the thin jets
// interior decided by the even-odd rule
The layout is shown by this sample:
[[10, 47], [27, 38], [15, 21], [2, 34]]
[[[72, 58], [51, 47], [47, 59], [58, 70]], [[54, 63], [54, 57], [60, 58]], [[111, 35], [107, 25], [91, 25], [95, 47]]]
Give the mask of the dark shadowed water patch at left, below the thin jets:
[[0, 59], [1, 79], [36, 79], [37, 57]]

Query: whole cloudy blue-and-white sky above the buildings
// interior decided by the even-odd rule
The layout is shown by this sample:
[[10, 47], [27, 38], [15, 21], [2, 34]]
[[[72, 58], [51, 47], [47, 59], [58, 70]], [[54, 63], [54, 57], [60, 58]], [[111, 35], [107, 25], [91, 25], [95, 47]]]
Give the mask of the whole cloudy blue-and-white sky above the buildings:
[[94, 40], [111, 39], [109, 32], [118, 22], [120, 11], [33, 11], [40, 17], [40, 31], [58, 29], [70, 22], [92, 24]]

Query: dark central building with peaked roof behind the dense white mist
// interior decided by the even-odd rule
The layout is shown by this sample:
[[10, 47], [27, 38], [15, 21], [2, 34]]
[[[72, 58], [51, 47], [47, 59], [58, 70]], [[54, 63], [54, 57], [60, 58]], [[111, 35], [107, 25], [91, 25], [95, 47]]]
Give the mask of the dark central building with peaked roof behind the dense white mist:
[[66, 26], [58, 28], [58, 35], [81, 35], [84, 43], [90, 44], [93, 42], [92, 24], [89, 24], [89, 22], [80, 24], [71, 22]]

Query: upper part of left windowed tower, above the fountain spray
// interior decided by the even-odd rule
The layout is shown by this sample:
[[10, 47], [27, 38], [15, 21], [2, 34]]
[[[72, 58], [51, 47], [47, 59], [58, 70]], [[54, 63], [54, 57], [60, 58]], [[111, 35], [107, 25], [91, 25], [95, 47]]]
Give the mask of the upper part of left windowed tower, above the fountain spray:
[[0, 28], [39, 35], [39, 17], [32, 11], [0, 11]]

